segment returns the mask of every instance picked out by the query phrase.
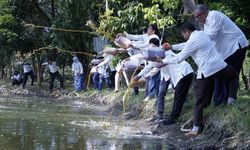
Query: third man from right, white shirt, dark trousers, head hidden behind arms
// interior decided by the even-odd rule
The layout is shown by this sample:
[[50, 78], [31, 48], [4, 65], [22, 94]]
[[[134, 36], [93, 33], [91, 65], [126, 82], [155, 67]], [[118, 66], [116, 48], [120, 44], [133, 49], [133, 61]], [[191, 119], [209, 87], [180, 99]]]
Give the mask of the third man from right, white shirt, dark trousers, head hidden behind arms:
[[[164, 59], [171, 59], [172, 56], [176, 54], [171, 50], [165, 52], [166, 57]], [[164, 61], [164, 60], [163, 60]], [[178, 64], [167, 64], [161, 68], [161, 82], [159, 88], [159, 94], [157, 97], [157, 123], [162, 123], [164, 125], [170, 125], [176, 122], [180, 117], [180, 113], [183, 104], [186, 100], [190, 85], [193, 79], [193, 69], [191, 65], [183, 60]], [[174, 88], [174, 101], [172, 106], [172, 111], [169, 118], [164, 118], [164, 106], [168, 85], [173, 85]]]

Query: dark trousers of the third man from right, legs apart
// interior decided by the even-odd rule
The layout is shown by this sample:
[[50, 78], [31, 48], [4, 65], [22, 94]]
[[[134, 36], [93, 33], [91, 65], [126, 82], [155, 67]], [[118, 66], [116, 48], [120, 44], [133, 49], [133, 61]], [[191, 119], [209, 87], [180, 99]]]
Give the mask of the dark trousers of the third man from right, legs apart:
[[[174, 88], [174, 102], [172, 106], [172, 111], [170, 113], [170, 119], [177, 119], [180, 116], [183, 104], [186, 100], [190, 85], [192, 83], [193, 73], [184, 76]], [[159, 94], [157, 98], [157, 115], [163, 116], [164, 114], [164, 97], [167, 92], [169, 81], [161, 80]]]

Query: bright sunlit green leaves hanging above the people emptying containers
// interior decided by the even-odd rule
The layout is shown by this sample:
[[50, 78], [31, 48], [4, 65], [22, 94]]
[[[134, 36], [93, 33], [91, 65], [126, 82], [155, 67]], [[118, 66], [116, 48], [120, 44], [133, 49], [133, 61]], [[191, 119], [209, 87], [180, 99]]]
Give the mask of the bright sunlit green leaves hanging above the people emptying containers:
[[179, 2], [174, 0], [128, 2], [123, 8], [112, 7], [101, 15], [99, 28], [112, 35], [123, 31], [141, 33], [145, 26], [154, 23], [159, 28], [168, 28], [176, 23], [178, 5]]

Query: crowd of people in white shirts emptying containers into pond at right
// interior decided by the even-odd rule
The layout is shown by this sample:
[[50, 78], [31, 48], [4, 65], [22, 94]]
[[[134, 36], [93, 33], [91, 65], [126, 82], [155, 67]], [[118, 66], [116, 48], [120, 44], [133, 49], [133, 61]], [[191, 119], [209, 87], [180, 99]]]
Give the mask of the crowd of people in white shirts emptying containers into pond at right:
[[[127, 46], [116, 45], [122, 49], [114, 52], [104, 51], [104, 61], [97, 63], [97, 69], [110, 66], [111, 59], [117, 52], [127, 52], [129, 58], [118, 63], [115, 73], [115, 92], [119, 90], [120, 77], [123, 75], [127, 86], [132, 86], [138, 94], [139, 84], [131, 84], [127, 73], [136, 70], [138, 73], [131, 81], [140, 83], [146, 80], [146, 101], [156, 97], [155, 121], [164, 125], [176, 122], [181, 114], [193, 77], [195, 106], [193, 112], [193, 128], [185, 135], [195, 137], [204, 128], [203, 110], [210, 105], [234, 104], [239, 88], [239, 73], [242, 69], [246, 50], [249, 45], [244, 33], [226, 15], [219, 11], [210, 11], [207, 6], [199, 4], [194, 11], [194, 18], [201, 26], [197, 30], [189, 22], [181, 26], [181, 34], [186, 40], [180, 44], [160, 45], [157, 26], [150, 25], [146, 33], [141, 35], [118, 34], [131, 40]], [[117, 41], [116, 41], [117, 42]], [[164, 51], [165, 57], [155, 56], [147, 59], [145, 52]], [[173, 52], [177, 51], [177, 52]], [[179, 52], [178, 52], [179, 51]], [[186, 61], [191, 57], [198, 69], [193, 70]], [[143, 69], [138, 69], [142, 68]], [[139, 70], [139, 71], [138, 71]], [[135, 71], [134, 71], [135, 72]], [[94, 72], [98, 76], [98, 71]], [[164, 116], [164, 97], [168, 86], [174, 88], [174, 101], [169, 117]]]

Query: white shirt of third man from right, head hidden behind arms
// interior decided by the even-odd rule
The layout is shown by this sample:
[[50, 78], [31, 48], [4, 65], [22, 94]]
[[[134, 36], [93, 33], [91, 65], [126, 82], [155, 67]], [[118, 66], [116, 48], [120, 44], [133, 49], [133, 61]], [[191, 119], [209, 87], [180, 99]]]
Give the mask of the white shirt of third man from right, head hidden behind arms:
[[[175, 56], [171, 50], [165, 52], [166, 59]], [[167, 81], [170, 77], [172, 84], [174, 87], [178, 84], [178, 82], [185, 77], [186, 75], [194, 72], [191, 65], [183, 60], [179, 64], [167, 64], [166, 66], [161, 68], [161, 80]]]

